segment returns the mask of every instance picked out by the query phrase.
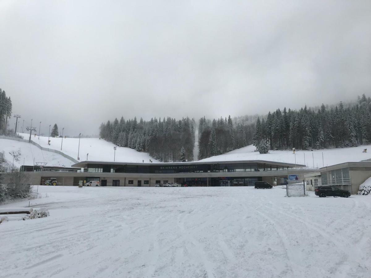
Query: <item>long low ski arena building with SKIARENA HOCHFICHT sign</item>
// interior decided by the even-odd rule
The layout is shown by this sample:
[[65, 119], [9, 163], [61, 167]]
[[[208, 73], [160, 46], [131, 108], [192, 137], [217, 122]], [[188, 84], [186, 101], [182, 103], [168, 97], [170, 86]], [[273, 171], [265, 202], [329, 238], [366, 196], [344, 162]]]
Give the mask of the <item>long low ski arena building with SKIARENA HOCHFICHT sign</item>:
[[125, 163], [82, 161], [71, 168], [22, 166], [32, 184], [56, 178], [59, 185], [100, 181], [101, 186], [155, 186], [180, 183], [188, 186], [254, 186], [256, 181], [284, 185], [304, 179], [313, 169], [305, 165], [264, 160], [223, 162]]

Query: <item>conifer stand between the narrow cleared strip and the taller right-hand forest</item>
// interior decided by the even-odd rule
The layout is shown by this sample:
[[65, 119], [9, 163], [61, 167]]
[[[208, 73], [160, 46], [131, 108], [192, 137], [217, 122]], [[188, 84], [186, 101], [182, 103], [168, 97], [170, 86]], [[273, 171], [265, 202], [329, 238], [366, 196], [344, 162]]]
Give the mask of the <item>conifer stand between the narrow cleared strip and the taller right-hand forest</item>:
[[198, 159], [220, 155], [250, 145], [254, 131], [254, 123], [233, 125], [230, 116], [228, 119], [223, 119], [223, 117], [213, 119], [212, 122], [203, 117], [198, 125]]

